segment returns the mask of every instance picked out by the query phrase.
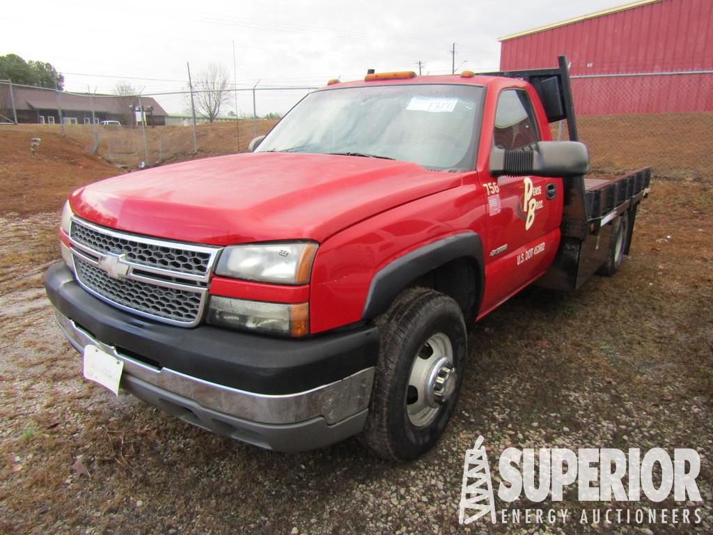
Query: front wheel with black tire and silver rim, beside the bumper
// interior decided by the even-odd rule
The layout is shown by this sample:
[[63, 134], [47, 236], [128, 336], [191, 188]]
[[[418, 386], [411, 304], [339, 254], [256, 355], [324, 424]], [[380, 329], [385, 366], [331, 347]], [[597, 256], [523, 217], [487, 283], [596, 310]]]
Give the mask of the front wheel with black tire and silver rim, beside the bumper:
[[467, 340], [458, 304], [427, 288], [406, 290], [379, 320], [380, 350], [361, 434], [385, 459], [416, 459], [446, 429], [463, 382]]

